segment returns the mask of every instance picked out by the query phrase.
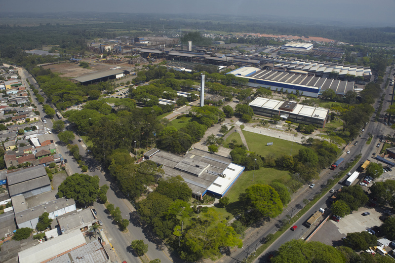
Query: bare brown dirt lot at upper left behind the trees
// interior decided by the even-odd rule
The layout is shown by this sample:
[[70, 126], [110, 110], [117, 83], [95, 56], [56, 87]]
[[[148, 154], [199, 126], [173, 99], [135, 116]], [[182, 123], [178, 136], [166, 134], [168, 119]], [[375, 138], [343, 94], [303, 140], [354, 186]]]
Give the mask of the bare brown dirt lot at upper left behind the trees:
[[84, 69], [78, 66], [79, 64], [76, 63], [60, 63], [60, 64], [53, 64], [49, 66], [44, 66], [44, 69], [50, 69], [52, 72], [61, 73], [60, 76], [62, 77], [78, 77], [81, 75], [86, 75], [90, 73], [94, 73], [97, 71], [105, 71], [111, 68], [111, 65], [106, 64], [90, 64], [90, 69]]

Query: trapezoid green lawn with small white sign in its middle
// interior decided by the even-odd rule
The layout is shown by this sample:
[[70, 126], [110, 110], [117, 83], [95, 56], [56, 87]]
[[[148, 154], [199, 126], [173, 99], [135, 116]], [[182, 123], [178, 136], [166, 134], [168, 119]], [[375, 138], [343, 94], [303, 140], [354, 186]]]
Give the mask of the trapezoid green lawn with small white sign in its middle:
[[[296, 155], [299, 149], [304, 148], [304, 146], [298, 143], [292, 143], [290, 141], [281, 140], [273, 137], [269, 137], [262, 134], [257, 134], [253, 132], [243, 131], [245, 140], [250, 151], [266, 156], [269, 153], [274, 153], [276, 157], [282, 156], [284, 154], [289, 154], [292, 148], [292, 155]], [[267, 143], [273, 143], [272, 146], [267, 146]]]

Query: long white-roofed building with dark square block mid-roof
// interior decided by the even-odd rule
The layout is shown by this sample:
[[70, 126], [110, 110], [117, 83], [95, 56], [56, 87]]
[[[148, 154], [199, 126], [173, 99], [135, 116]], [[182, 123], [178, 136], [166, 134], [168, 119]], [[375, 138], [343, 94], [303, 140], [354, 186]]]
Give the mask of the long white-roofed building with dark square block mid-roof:
[[257, 115], [272, 118], [277, 115], [282, 119], [296, 123], [313, 124], [325, 127], [329, 110], [297, 104], [292, 101], [278, 101], [273, 99], [257, 97], [250, 104]]

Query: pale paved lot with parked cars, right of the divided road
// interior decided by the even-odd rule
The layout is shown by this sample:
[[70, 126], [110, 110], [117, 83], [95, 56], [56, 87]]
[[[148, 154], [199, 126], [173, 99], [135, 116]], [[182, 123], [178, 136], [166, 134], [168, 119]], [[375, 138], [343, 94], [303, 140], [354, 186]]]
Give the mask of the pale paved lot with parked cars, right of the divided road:
[[[362, 216], [363, 212], [370, 212], [369, 216]], [[326, 245], [341, 245], [341, 238], [347, 233], [362, 232], [375, 225], [380, 226], [383, 222], [379, 219], [382, 215], [381, 208], [361, 207], [353, 214], [342, 218], [338, 223], [328, 220], [313, 236], [311, 241], [319, 241]]]

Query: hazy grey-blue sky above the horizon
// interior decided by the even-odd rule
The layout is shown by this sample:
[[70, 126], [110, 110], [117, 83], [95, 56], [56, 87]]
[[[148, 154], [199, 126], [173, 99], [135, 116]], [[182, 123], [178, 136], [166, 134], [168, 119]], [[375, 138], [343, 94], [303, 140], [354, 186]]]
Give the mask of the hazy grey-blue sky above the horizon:
[[[276, 20], [395, 26], [395, 0], [0, 0], [0, 12], [128, 12], [249, 14]], [[81, 14], [82, 15], [82, 14]]]

